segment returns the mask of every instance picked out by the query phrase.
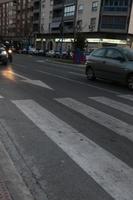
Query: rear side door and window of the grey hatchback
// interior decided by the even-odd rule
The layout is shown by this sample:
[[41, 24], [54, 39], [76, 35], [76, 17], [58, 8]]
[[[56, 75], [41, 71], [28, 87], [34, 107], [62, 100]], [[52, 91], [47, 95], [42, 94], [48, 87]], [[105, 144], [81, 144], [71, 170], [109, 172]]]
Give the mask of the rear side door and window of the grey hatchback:
[[89, 57], [90, 65], [93, 67], [96, 77], [102, 77], [102, 71], [105, 64], [105, 52], [105, 48], [100, 48], [92, 52]]

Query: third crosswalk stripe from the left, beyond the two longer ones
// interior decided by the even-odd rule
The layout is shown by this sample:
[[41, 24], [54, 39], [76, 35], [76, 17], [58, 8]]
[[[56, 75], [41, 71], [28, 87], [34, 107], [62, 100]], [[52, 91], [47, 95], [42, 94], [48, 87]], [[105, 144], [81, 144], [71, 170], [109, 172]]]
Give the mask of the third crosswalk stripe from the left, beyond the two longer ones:
[[129, 106], [127, 104], [124, 104], [124, 103], [109, 99], [107, 97], [102, 97], [102, 96], [101, 97], [89, 97], [89, 99], [92, 99], [94, 101], [97, 101], [99, 103], [107, 105], [107, 106], [109, 106], [111, 108], [120, 110], [120, 111], [125, 112], [125, 113], [127, 113], [129, 115], [133, 115], [133, 107]]

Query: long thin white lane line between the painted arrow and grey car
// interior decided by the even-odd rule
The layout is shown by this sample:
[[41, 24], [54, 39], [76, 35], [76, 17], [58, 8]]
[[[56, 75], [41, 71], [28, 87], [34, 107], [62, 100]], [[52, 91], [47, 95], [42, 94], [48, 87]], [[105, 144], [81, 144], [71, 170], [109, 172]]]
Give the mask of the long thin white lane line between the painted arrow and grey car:
[[66, 78], [64, 76], [60, 76], [60, 75], [56, 75], [56, 74], [52, 74], [52, 73], [49, 73], [49, 72], [44, 72], [44, 71], [41, 71], [41, 70], [36, 70], [36, 72], [39, 72], [39, 73], [42, 73], [42, 74], [45, 74], [45, 75], [49, 75], [49, 76], [53, 76], [53, 77], [56, 77], [56, 78], [60, 78], [60, 79], [63, 79], [63, 80], [67, 80], [67, 81], [70, 81], [70, 82], [74, 82], [74, 83], [77, 83], [77, 84], [80, 84], [80, 85], [85, 85], [87, 87], [95, 88], [95, 89], [98, 89], [98, 90], [101, 90], [101, 91], [104, 91], [104, 92], [108, 92], [108, 93], [111, 93], [111, 94], [115, 94], [115, 95], [120, 94], [119, 92], [115, 92], [115, 91], [110, 90], [110, 89], [108, 90], [108, 89], [105, 89], [105, 88], [102, 88], [102, 87], [91, 85], [89, 83], [86, 84], [86, 83], [83, 83], [81, 81], [73, 80], [73, 79]]

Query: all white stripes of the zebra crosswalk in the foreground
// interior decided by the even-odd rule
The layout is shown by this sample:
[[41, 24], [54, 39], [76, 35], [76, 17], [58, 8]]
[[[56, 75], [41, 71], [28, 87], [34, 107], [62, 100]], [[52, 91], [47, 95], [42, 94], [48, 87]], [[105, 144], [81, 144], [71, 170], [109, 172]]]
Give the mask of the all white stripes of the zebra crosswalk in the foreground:
[[[118, 96], [119, 101], [104, 96], [89, 97], [91, 102], [97, 102], [99, 106], [106, 105], [132, 118], [133, 107], [125, 101], [123, 103], [120, 98], [131, 101], [131, 103], [133, 100], [131, 95]], [[133, 124], [107, 114], [105, 110], [95, 108], [91, 102], [88, 101], [85, 104], [73, 98], [56, 98], [54, 101], [61, 107], [69, 108], [70, 112], [80, 114], [102, 128], [133, 142]], [[12, 103], [113, 199], [133, 199], [133, 168], [128, 163], [92, 141], [36, 101], [32, 99], [12, 100]]]

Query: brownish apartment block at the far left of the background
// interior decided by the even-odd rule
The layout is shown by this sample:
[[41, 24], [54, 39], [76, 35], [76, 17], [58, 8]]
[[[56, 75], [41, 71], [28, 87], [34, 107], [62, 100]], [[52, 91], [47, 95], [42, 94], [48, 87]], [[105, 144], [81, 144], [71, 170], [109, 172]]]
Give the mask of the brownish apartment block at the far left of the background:
[[32, 34], [33, 1], [0, 1], [0, 37], [3, 40], [23, 42]]

